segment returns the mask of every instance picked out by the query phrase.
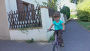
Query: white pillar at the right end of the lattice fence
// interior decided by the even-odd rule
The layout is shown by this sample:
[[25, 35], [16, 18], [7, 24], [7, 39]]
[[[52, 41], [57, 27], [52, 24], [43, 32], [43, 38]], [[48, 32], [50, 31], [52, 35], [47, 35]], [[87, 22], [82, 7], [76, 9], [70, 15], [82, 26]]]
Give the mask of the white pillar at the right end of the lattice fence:
[[50, 26], [50, 18], [49, 18], [49, 12], [47, 7], [41, 7], [41, 19], [42, 19], [42, 27], [43, 29], [48, 29]]

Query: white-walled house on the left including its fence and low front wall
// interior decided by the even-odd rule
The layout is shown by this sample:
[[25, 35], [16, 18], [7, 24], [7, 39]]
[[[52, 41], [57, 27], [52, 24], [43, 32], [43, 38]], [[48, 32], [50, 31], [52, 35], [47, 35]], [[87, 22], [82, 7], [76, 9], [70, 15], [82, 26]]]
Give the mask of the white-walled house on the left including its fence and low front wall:
[[47, 0], [0, 0], [0, 39], [48, 41], [52, 18], [42, 2]]

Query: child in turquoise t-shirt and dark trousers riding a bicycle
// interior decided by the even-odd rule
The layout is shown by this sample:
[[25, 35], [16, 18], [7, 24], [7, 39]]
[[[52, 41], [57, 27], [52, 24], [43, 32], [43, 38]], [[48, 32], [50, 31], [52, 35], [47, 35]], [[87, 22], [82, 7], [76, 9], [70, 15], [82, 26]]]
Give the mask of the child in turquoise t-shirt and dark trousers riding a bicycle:
[[53, 24], [50, 26], [48, 30], [50, 30], [54, 26], [55, 34], [58, 35], [58, 42], [60, 46], [64, 47], [64, 43], [62, 39], [62, 31], [65, 30], [64, 23], [63, 21], [60, 20], [60, 16], [58, 13], [55, 13], [53, 17], [54, 17]]

